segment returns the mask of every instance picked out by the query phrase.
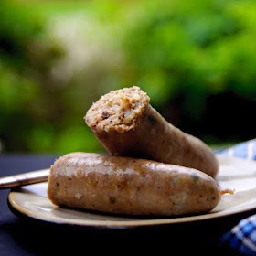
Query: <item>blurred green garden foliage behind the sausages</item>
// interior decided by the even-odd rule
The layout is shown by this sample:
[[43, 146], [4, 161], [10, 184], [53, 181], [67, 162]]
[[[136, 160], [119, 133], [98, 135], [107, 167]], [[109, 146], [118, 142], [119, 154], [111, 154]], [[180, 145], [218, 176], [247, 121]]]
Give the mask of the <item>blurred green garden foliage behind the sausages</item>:
[[2, 152], [101, 152], [83, 117], [140, 86], [212, 146], [256, 137], [256, 2], [0, 1]]

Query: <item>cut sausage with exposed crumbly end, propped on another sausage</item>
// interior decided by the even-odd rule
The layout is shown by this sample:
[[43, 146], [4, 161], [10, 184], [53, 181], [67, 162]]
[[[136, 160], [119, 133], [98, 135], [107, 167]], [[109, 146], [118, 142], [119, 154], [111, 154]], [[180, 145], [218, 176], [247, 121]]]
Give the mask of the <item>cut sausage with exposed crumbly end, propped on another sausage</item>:
[[165, 121], [139, 87], [111, 91], [92, 104], [85, 122], [112, 155], [196, 168], [215, 177], [219, 162], [198, 138]]

